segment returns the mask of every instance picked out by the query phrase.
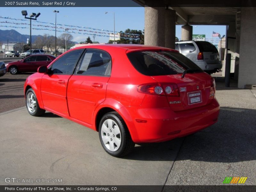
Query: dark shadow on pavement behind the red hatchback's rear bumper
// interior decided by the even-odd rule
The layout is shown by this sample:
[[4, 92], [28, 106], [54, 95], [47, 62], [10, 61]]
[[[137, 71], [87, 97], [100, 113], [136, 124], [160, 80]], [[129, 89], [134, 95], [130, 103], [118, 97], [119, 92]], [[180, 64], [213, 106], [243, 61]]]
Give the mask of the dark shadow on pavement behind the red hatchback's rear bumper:
[[[176, 161], [241, 162], [256, 160], [256, 110], [221, 107], [218, 123], [184, 138]], [[125, 159], [170, 160], [183, 138], [135, 147]], [[177, 149], [176, 149], [177, 150]]]

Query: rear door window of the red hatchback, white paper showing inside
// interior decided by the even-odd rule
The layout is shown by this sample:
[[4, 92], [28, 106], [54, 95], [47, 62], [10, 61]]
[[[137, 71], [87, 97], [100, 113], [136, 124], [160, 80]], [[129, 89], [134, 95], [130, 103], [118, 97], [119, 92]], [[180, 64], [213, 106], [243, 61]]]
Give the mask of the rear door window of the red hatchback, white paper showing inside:
[[76, 70], [76, 74], [110, 76], [111, 58], [103, 51], [87, 50]]

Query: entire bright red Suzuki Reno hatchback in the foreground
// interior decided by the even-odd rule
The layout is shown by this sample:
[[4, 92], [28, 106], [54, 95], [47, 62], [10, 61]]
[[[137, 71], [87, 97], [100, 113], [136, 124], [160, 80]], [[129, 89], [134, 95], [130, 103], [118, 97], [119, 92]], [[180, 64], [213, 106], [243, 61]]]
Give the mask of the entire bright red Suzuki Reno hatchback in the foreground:
[[24, 85], [32, 116], [45, 110], [99, 132], [116, 157], [217, 122], [215, 81], [179, 52], [157, 46], [77, 47], [41, 66]]

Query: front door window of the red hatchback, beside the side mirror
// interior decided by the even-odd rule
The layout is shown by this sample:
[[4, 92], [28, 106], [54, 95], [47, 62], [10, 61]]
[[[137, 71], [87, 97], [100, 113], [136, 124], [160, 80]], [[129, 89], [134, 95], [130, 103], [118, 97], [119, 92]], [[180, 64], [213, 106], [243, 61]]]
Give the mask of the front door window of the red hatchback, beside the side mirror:
[[60, 59], [56, 60], [52, 64], [51, 66], [52, 73], [72, 74], [74, 71], [74, 67], [76, 66], [76, 63], [79, 60], [83, 51], [84, 51], [83, 49], [75, 50], [60, 57]]

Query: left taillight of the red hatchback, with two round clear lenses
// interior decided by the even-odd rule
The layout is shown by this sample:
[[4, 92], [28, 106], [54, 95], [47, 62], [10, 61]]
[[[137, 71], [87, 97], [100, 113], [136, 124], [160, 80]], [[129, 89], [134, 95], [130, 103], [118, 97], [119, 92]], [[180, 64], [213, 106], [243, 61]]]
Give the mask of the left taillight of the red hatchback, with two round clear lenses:
[[138, 86], [138, 92], [152, 95], [179, 96], [178, 85], [174, 83], [150, 83]]

